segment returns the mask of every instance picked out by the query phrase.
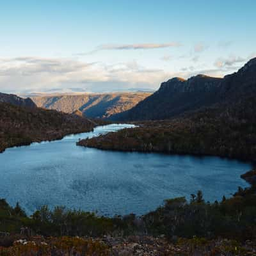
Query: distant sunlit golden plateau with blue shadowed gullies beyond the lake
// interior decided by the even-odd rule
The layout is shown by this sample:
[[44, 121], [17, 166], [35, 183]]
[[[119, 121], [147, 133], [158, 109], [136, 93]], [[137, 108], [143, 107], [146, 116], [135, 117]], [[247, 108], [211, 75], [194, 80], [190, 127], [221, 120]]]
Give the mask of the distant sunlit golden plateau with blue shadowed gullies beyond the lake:
[[31, 97], [38, 107], [56, 109], [65, 113], [77, 110], [91, 118], [109, 118], [127, 111], [151, 93], [86, 93], [78, 95], [44, 95]]

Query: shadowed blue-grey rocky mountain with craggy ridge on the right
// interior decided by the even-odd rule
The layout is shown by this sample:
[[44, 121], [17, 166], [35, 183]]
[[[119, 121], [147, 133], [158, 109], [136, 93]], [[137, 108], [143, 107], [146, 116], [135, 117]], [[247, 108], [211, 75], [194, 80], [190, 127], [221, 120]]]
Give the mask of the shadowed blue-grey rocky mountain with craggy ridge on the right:
[[134, 108], [112, 116], [113, 120], [159, 120], [187, 111], [232, 102], [256, 93], [256, 58], [238, 72], [223, 78], [198, 75], [188, 80], [175, 77]]

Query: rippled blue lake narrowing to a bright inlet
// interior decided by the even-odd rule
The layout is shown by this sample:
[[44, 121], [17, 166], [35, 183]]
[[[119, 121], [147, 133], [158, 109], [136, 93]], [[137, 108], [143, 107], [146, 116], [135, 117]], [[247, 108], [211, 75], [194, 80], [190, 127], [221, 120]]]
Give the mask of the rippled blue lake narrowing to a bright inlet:
[[145, 214], [166, 198], [201, 189], [221, 200], [238, 186], [249, 163], [219, 157], [112, 152], [76, 146], [79, 138], [132, 125], [106, 125], [63, 140], [8, 148], [0, 154], [0, 197], [28, 214], [41, 205], [65, 205], [99, 214]]

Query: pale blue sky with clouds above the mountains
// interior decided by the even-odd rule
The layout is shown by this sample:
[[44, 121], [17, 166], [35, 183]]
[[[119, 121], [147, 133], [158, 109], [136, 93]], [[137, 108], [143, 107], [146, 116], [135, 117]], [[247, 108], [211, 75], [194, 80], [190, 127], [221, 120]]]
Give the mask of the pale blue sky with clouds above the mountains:
[[0, 92], [157, 90], [256, 57], [256, 1], [0, 3]]

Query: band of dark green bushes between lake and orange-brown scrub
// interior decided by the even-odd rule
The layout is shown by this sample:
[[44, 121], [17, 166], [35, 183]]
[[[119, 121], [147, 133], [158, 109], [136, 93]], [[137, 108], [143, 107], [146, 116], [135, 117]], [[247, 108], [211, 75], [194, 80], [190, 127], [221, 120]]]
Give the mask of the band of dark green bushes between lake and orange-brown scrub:
[[[251, 172], [248, 176], [252, 177]], [[201, 191], [185, 198], [165, 200], [164, 205], [144, 216], [107, 218], [91, 212], [47, 206], [26, 216], [19, 204], [10, 207], [0, 200], [0, 230], [26, 236], [128, 236], [150, 234], [166, 237], [224, 237], [245, 241], [256, 237], [256, 185], [239, 188], [232, 198], [205, 202]], [[1, 244], [0, 244], [1, 245]]]

